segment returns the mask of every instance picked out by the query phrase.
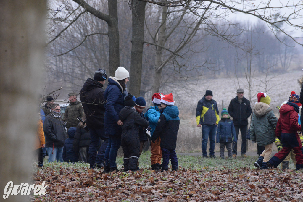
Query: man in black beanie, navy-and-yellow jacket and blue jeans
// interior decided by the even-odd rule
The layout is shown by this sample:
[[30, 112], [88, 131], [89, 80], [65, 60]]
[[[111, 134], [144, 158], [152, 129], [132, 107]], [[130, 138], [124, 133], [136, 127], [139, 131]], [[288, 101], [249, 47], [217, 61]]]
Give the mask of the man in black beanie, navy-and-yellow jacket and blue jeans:
[[209, 157], [215, 158], [215, 139], [217, 125], [220, 121], [218, 105], [212, 99], [212, 91], [206, 90], [205, 95], [198, 101], [196, 109], [197, 127], [202, 126], [202, 156], [208, 157], [206, 145], [209, 136]]

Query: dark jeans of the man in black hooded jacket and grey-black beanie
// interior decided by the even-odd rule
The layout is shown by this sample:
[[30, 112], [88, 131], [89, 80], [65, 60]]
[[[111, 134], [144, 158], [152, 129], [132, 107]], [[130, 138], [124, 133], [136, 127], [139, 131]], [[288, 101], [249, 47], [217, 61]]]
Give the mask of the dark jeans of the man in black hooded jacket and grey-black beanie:
[[[95, 163], [101, 164], [104, 162], [104, 153], [108, 145], [108, 135], [105, 134], [104, 128], [89, 129], [89, 133], [91, 136], [91, 141], [89, 143], [89, 149], [88, 149], [89, 166], [92, 168]], [[100, 138], [103, 140], [101, 146], [100, 146]]]

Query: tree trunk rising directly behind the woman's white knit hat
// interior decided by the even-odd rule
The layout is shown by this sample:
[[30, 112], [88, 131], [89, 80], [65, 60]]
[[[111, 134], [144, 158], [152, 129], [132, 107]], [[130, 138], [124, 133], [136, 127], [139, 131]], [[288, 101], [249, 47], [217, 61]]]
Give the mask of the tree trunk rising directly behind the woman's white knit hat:
[[115, 71], [120, 66], [117, 0], [108, 0], [108, 15], [109, 74], [115, 76]]

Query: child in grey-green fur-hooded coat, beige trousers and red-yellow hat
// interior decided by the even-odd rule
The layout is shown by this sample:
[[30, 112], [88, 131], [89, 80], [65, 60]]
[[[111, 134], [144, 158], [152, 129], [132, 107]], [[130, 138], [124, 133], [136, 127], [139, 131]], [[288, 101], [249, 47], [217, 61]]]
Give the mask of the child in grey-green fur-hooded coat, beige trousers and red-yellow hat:
[[[266, 93], [258, 93], [258, 103], [255, 104], [250, 125], [250, 140], [264, 146], [265, 149], [254, 165], [267, 169], [267, 162], [275, 142], [275, 129], [278, 118], [269, 106], [271, 99]], [[297, 119], [298, 120], [298, 119]]]

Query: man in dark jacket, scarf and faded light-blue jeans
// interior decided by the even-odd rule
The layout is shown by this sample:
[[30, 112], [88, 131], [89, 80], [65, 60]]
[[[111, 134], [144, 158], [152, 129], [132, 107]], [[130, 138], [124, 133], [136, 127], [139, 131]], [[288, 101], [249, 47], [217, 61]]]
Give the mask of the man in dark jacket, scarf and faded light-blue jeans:
[[63, 162], [62, 153], [65, 141], [65, 128], [60, 110], [59, 104], [53, 104], [51, 111], [45, 117], [43, 123], [48, 162], [53, 162], [55, 159]]

